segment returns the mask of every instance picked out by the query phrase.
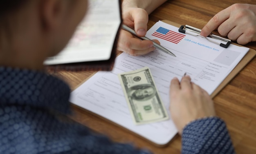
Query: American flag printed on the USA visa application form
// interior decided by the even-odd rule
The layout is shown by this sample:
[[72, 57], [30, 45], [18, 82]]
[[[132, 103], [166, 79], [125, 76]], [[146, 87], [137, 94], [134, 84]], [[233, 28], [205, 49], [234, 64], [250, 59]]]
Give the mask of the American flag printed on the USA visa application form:
[[184, 37], [185, 35], [177, 33], [175, 31], [171, 31], [169, 29], [159, 27], [153, 34], [152, 36], [162, 38], [164, 40], [173, 42], [175, 44], [178, 44]]

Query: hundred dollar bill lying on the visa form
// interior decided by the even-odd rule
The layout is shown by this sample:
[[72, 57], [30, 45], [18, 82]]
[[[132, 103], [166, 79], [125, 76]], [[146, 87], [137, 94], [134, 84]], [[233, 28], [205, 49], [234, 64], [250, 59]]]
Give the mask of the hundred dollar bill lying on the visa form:
[[135, 124], [169, 118], [148, 67], [121, 73], [118, 77]]

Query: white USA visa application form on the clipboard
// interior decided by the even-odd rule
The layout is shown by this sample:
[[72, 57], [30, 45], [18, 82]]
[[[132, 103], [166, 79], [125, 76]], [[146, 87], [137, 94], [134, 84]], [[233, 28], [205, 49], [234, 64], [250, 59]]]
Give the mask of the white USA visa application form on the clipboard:
[[[211, 94], [249, 48], [230, 45], [227, 49], [208, 40], [178, 32], [178, 28], [157, 22], [146, 37], [157, 39], [177, 57], [155, 50], [144, 56], [122, 53], [116, 58], [112, 71], [99, 71], [75, 89], [70, 102], [113, 121], [149, 141], [165, 145], [177, 133], [171, 118], [167, 121], [135, 125], [117, 74], [148, 66], [166, 109], [169, 107], [171, 79], [182, 78], [184, 73], [194, 83]], [[170, 116], [169, 110], [168, 114]], [[171, 117], [171, 116], [170, 116]]]

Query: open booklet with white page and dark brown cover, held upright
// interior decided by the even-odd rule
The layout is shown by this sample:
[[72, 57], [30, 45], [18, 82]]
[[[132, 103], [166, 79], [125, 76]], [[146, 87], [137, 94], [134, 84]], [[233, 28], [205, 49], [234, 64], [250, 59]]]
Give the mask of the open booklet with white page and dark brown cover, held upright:
[[[50, 71], [112, 70], [117, 56], [117, 42], [122, 23], [121, 0], [116, 0], [115, 2], [110, 0], [104, 2], [91, 0], [88, 2], [88, 13], [76, 29], [69, 44], [61, 53], [45, 60], [46, 69]], [[100, 17], [106, 21], [102, 21]], [[111, 37], [100, 40], [104, 36], [108, 36], [108, 34]], [[97, 42], [97, 37], [101, 42]], [[93, 45], [93, 42], [95, 42], [95, 45]], [[102, 46], [101, 43], [103, 44]], [[81, 47], [78, 47], [79, 45]], [[87, 46], [92, 47], [88, 49]], [[98, 49], [98, 46], [101, 47]], [[92, 54], [93, 52], [95, 54]]]

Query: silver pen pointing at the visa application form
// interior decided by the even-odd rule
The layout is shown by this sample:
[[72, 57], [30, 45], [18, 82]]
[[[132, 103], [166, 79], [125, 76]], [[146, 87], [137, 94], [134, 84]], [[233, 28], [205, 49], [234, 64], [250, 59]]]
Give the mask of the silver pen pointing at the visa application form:
[[[139, 39], [141, 39], [141, 40], [150, 40], [149, 38], [147, 38], [147, 37], [145, 37], [145, 36], [144, 36], [144, 37], [138, 36], [138, 35], [136, 34], [136, 32], [135, 32], [134, 29], [132, 29], [131, 27], [126, 26], [126, 25], [124, 25], [124, 24], [122, 25], [122, 29], [124, 29], [124, 30], [130, 32], [133, 36], [136, 36], [137, 38], [139, 38]], [[153, 46], [154, 46], [155, 48], [157, 48], [157, 49], [159, 49], [159, 50], [161, 50], [161, 51], [164, 51], [165, 53], [170, 54], [171, 56], [176, 57], [175, 54], [173, 54], [173, 53], [172, 53], [171, 51], [169, 51], [168, 49], [166, 49], [166, 48], [164, 48], [163, 46], [157, 44], [157, 43], [154, 42], [153, 40], [150, 40], [150, 41], [153, 42]]]

